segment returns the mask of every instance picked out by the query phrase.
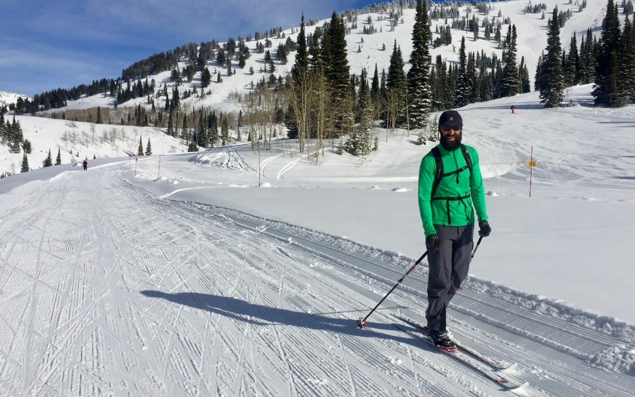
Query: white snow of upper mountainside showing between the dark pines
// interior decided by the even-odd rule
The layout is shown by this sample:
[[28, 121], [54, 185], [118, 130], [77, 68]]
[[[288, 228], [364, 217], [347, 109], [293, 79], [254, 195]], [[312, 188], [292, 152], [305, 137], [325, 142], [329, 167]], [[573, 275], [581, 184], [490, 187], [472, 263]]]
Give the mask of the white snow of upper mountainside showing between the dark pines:
[[[560, 37], [563, 44], [563, 48], [568, 51], [569, 42], [573, 33], [577, 33], [578, 35], [585, 34], [587, 28], [592, 27], [596, 28], [598, 25], [601, 25], [601, 21], [603, 15], [605, 13], [606, 1], [605, 0], [588, 0], [587, 8], [582, 11], [582, 13], [578, 13], [578, 6], [575, 4], [566, 4], [559, 0], [544, 0], [540, 1], [540, 3], [545, 3], [547, 5], [547, 10], [545, 10], [545, 14], [549, 15], [555, 6], [558, 6], [558, 9], [561, 11], [573, 10], [573, 16], [570, 20], [568, 20], [565, 24], [565, 27], [561, 29]], [[492, 16], [495, 17], [496, 21], [502, 21], [503, 18], [508, 17], [511, 18], [511, 22], [516, 25], [516, 29], [518, 30], [518, 62], [520, 62], [521, 57], [525, 56], [525, 62], [528, 65], [528, 70], [530, 73], [530, 81], [533, 84], [533, 74], [535, 73], [536, 64], [538, 61], [538, 56], [544, 50], [547, 45], [547, 18], [544, 20], [540, 19], [541, 13], [538, 14], [524, 14], [523, 8], [528, 3], [524, 0], [512, 0], [505, 1], [500, 3], [491, 3], [493, 6], [493, 10], [490, 11], [489, 15], [478, 15], [479, 20], [483, 20], [483, 18], [487, 17], [491, 22]], [[460, 8], [461, 15], [465, 15], [465, 12], [468, 7], [464, 6]], [[471, 8], [473, 13], [477, 13], [475, 8]], [[498, 18], [498, 11], [501, 11], [502, 17]], [[376, 34], [366, 35], [362, 34], [362, 30], [364, 28], [364, 23], [366, 23], [366, 18], [371, 16], [373, 20], [373, 25], [377, 30], [382, 29], [382, 32], [377, 32]], [[352, 29], [351, 34], [346, 36], [347, 41], [347, 49], [348, 49], [348, 62], [351, 67], [351, 73], [359, 75], [361, 73], [362, 68], [366, 68], [369, 71], [369, 76], [372, 76], [373, 70], [375, 68], [375, 63], [379, 68], [379, 72], [381, 73], [382, 68], [388, 70], [390, 55], [392, 51], [392, 43], [396, 40], [398, 45], [401, 46], [401, 51], [403, 53], [404, 61], [406, 65], [404, 67], [407, 69], [409, 67], [408, 60], [410, 59], [410, 53], [412, 51], [412, 42], [411, 42], [411, 34], [412, 28], [414, 25], [414, 9], [406, 9], [404, 10], [404, 23], [400, 23], [396, 26], [393, 32], [390, 32], [390, 23], [388, 20], [378, 21], [378, 16], [387, 16], [378, 15], [377, 13], [370, 14], [361, 14], [358, 16], [358, 29]], [[306, 27], [306, 34], [310, 34], [314, 32], [316, 27], [323, 25], [324, 22], [328, 22], [329, 19], [324, 19], [318, 22], [314, 26]], [[448, 23], [451, 24], [451, 20], [448, 20]], [[439, 27], [445, 26], [445, 20], [432, 20], [431, 30], [433, 32], [434, 37], [438, 37], [437, 34], [434, 34], [437, 25]], [[351, 26], [351, 22], [347, 22], [347, 27]], [[504, 37], [507, 32], [508, 25], [502, 25], [502, 36]], [[486, 55], [491, 56], [492, 53], [496, 53], [498, 58], [502, 57], [502, 51], [497, 48], [497, 44], [492, 40], [486, 41], [483, 38], [481, 29], [481, 38], [478, 41], [473, 41], [472, 33], [467, 30], [458, 30], [452, 29], [452, 45], [450, 46], [441, 46], [436, 49], [431, 49], [432, 59], [434, 60], [437, 55], [441, 55], [443, 59], [448, 60], [448, 62], [458, 62], [458, 49], [460, 48], [461, 37], [465, 36], [465, 45], [467, 47], [467, 51], [485, 51]], [[284, 34], [287, 37], [291, 37], [294, 41], [297, 40], [298, 29], [295, 29], [295, 34], [291, 34], [291, 29], [284, 30]], [[594, 34], [598, 32], [594, 30]], [[240, 32], [237, 32], [240, 34]], [[243, 35], [244, 36], [244, 35]], [[364, 42], [361, 42], [363, 39]], [[272, 38], [272, 46], [268, 48], [271, 51], [272, 57], [276, 55], [276, 48], [279, 43], [284, 43], [286, 38], [284, 39], [276, 39]], [[578, 44], [580, 42], [580, 37], [578, 36]], [[382, 51], [382, 44], [385, 44], [386, 50]], [[264, 76], [265, 79], [269, 77], [269, 74], [260, 73], [260, 68], [264, 67], [264, 54], [260, 54], [255, 50], [256, 41], [246, 42], [246, 45], [250, 49], [251, 58], [246, 61], [246, 66], [244, 69], [237, 69], [236, 75], [228, 76], [227, 70], [224, 65], [218, 65], [214, 60], [211, 60], [208, 63], [208, 69], [212, 73], [211, 75], [211, 85], [208, 86], [207, 89], [211, 90], [211, 94], [205, 96], [203, 99], [197, 98], [196, 96], [192, 96], [187, 100], [183, 101], [183, 105], [189, 108], [199, 108], [201, 106], [204, 107], [213, 107], [218, 110], [222, 110], [223, 112], [233, 111], [238, 112], [240, 110], [240, 104], [236, 102], [232, 102], [229, 100], [228, 96], [232, 93], [247, 93], [250, 90], [250, 84], [253, 82], [254, 84], [262, 79]], [[361, 46], [361, 53], [358, 53], [358, 49]], [[454, 51], [452, 47], [455, 47]], [[280, 62], [275, 61], [276, 64], [276, 72], [275, 75], [286, 75], [290, 71], [291, 66], [293, 65], [295, 59], [295, 52], [291, 53], [288, 57], [288, 63], [286, 65], [282, 65]], [[187, 64], [187, 60], [181, 60], [180, 68], [185, 67]], [[237, 68], [237, 62], [234, 62], [234, 67]], [[253, 67], [255, 70], [254, 75], [249, 74], [249, 68]], [[220, 72], [222, 77], [222, 82], [217, 83], [217, 74], [215, 72]], [[163, 86], [163, 84], [167, 84], [168, 88], [171, 89], [175, 84], [171, 82], [170, 72], [162, 72], [157, 75], [150, 76], [149, 80], [154, 79], [157, 86]], [[188, 83], [187, 81], [179, 86], [179, 91], [183, 92], [188, 89], [196, 88], [199, 92], [201, 90], [201, 79], [200, 73], [197, 73], [194, 77], [194, 81]], [[157, 98], [156, 106], [160, 107], [161, 103], [163, 103], [164, 97]], [[141, 104], [143, 106], [147, 106], [145, 104], [145, 98], [137, 98], [136, 100], [128, 101], [124, 104], [120, 104], [125, 106], [136, 106]], [[98, 94], [95, 96], [91, 96], [88, 98], [82, 98], [78, 101], [69, 101], [68, 109], [77, 109], [77, 108], [90, 108], [97, 106], [112, 106], [114, 103], [111, 98], [107, 98], [104, 94]], [[62, 109], [50, 110], [49, 112], [58, 112]]]

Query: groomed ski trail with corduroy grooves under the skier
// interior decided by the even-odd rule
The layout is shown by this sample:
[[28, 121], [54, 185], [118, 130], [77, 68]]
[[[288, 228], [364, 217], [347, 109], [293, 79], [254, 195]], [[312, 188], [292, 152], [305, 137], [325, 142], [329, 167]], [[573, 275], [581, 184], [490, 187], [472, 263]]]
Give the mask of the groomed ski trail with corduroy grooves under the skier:
[[[422, 320], [425, 268], [373, 313], [372, 330], [356, 329], [410, 259], [160, 199], [124, 180], [127, 167], [0, 196], [0, 395], [509, 395], [392, 325], [395, 310]], [[632, 374], [598, 360], [632, 349], [631, 334], [496, 295], [458, 294], [452, 331], [518, 361], [523, 394], [631, 395]]]

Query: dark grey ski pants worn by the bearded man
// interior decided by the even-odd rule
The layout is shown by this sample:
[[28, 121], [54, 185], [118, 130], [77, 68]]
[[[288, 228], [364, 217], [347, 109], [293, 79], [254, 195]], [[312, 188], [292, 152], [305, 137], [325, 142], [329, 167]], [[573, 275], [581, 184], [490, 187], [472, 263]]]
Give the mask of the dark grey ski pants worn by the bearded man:
[[446, 309], [467, 277], [474, 242], [474, 224], [435, 225], [439, 251], [428, 253], [428, 309], [425, 318], [433, 331], [446, 330]]

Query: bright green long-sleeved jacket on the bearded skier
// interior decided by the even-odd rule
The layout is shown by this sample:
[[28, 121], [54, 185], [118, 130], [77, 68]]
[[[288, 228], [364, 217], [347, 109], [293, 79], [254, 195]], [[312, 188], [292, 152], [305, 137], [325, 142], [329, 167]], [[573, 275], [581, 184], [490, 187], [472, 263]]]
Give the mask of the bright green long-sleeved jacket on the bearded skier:
[[[441, 178], [441, 183], [436, 190], [435, 197], [466, 197], [462, 200], [432, 200], [432, 183], [436, 171], [436, 161], [432, 152], [427, 153], [421, 160], [419, 167], [419, 212], [424, 223], [425, 237], [437, 233], [434, 225], [467, 226], [474, 223], [474, 209], [479, 221], [486, 221], [485, 188], [483, 176], [479, 164], [476, 149], [465, 145], [472, 159], [472, 174], [469, 169], [464, 169], [450, 176]], [[460, 150], [449, 152], [439, 145], [441, 160], [443, 160], [443, 173], [456, 171], [467, 166]], [[449, 218], [448, 219], [448, 214]], [[450, 223], [451, 221], [451, 223]]]

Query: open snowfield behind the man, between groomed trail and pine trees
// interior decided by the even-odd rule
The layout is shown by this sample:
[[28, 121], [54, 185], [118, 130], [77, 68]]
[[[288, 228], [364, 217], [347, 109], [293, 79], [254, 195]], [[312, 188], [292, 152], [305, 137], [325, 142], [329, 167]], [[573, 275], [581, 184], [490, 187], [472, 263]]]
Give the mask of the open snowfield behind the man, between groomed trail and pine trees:
[[[633, 275], [625, 247], [635, 228], [635, 107], [592, 108], [590, 89], [571, 90], [581, 103], [570, 108], [544, 109], [537, 93], [529, 93], [460, 109], [464, 142], [479, 151], [491, 225], [498, 230], [471, 271], [635, 323], [632, 277], [615, 277]], [[509, 111], [512, 103], [516, 114]], [[378, 133], [383, 141], [384, 130]], [[252, 152], [250, 145], [218, 148], [189, 161], [164, 160], [161, 176], [169, 181], [153, 182], [156, 159], [140, 163], [138, 176], [162, 197], [240, 209], [416, 257], [424, 247], [418, 165], [432, 145], [415, 140], [399, 131], [366, 160], [327, 155], [317, 167], [293, 141], [274, 144], [272, 153]], [[532, 145], [537, 167], [528, 200]], [[253, 187], [258, 164], [271, 192]], [[576, 282], [563, 287], [572, 275]], [[590, 293], [597, 285], [615, 288]]]

